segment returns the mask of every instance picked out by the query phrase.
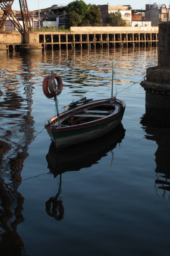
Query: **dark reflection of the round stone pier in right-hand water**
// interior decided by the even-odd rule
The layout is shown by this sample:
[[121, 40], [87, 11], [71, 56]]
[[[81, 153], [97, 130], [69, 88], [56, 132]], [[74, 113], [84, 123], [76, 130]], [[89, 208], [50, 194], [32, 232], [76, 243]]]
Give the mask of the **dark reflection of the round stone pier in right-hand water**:
[[151, 120], [146, 114], [141, 118], [141, 124], [146, 132], [146, 139], [153, 140], [158, 145], [155, 152], [155, 172], [157, 177], [155, 180], [156, 193], [161, 199], [169, 200], [170, 125]]

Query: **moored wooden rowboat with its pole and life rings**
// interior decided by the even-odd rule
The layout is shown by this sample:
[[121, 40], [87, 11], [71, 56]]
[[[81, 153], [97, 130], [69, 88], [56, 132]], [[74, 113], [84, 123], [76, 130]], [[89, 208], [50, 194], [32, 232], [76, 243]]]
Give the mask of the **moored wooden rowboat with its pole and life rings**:
[[57, 150], [100, 138], [110, 133], [122, 121], [125, 102], [112, 95], [111, 98], [101, 100], [86, 100], [84, 97], [64, 106], [63, 108], [69, 109], [59, 113], [57, 96], [62, 91], [61, 77], [52, 72], [44, 78], [42, 86], [46, 97], [54, 97], [56, 103], [57, 115], [46, 121], [45, 129]]

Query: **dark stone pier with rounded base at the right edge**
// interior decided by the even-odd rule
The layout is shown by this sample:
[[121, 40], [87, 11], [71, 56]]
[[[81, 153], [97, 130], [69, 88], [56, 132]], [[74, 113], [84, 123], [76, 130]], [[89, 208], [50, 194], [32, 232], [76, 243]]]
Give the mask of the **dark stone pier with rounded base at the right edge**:
[[158, 66], [146, 70], [141, 86], [146, 91], [146, 114], [170, 123], [170, 23], [159, 24]]

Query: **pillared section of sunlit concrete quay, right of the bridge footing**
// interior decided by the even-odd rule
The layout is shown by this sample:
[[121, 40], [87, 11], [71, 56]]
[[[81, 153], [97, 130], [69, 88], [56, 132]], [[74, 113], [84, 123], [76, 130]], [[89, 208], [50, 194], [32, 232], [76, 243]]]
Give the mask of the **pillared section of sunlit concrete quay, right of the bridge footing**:
[[158, 43], [158, 27], [71, 27], [70, 32], [39, 32], [42, 46], [144, 46]]

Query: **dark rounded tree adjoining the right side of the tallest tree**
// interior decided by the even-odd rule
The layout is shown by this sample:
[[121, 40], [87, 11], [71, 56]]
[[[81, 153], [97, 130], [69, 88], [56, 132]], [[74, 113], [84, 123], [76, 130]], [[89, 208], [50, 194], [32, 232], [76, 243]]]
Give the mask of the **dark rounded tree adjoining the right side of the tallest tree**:
[[99, 5], [88, 5], [88, 12], [84, 18], [84, 23], [98, 24], [101, 23], [101, 11]]

